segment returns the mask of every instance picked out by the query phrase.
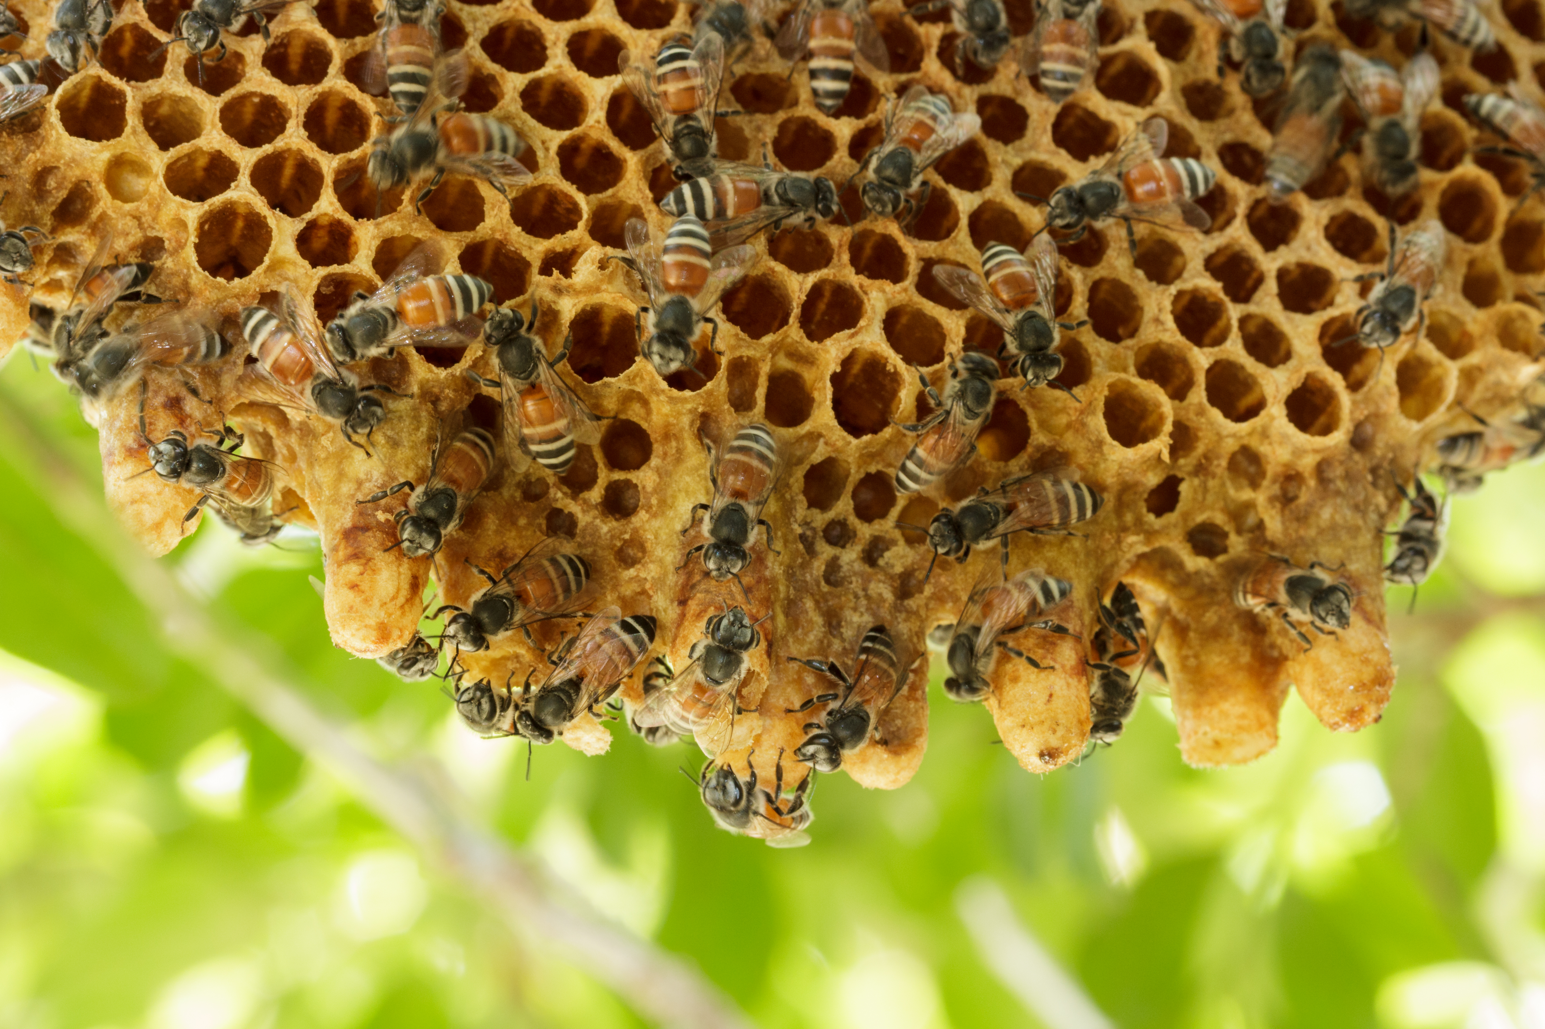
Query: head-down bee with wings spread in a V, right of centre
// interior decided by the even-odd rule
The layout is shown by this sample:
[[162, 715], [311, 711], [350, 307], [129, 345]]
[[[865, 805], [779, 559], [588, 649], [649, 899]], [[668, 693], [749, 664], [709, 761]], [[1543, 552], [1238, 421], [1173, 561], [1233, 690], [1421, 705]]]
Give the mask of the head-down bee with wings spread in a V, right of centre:
[[1054, 382], [1061, 374], [1063, 358], [1057, 354], [1057, 329], [1082, 329], [1088, 321], [1057, 321], [1052, 303], [1057, 300], [1057, 244], [1038, 235], [1020, 253], [1001, 243], [989, 243], [981, 252], [981, 273], [958, 264], [936, 264], [933, 278], [961, 303], [987, 315], [1004, 332], [1000, 360], [1012, 360], [1024, 377], [1021, 389], [1051, 386], [1078, 399], [1068, 386]]

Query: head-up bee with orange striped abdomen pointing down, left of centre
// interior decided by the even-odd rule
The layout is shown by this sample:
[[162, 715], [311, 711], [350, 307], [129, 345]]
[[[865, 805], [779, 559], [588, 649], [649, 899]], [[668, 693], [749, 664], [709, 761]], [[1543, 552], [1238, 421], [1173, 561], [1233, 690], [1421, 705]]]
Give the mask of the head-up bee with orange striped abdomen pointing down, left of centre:
[[575, 443], [596, 443], [601, 436], [590, 408], [558, 375], [556, 366], [569, 357], [573, 338], [564, 337], [558, 358], [548, 360], [542, 341], [533, 335], [536, 314], [536, 300], [531, 300], [530, 318], [522, 318], [519, 311], [494, 307], [484, 324], [484, 345], [494, 351], [499, 379], [468, 375], [496, 386], [504, 399], [504, 443], [511, 470], [521, 473], [536, 459], [561, 476], [575, 460]]

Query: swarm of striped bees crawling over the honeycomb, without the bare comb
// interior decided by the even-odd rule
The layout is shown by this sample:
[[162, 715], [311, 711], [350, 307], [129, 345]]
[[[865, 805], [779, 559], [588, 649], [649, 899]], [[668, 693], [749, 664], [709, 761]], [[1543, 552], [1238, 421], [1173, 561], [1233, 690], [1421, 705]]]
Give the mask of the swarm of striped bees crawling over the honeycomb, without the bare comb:
[[[256, 28], [267, 43], [269, 19], [303, 6], [292, 5], [193, 0], [165, 46], [185, 46], [195, 59], [190, 74], [202, 76], [227, 59], [227, 34]], [[1310, 202], [1296, 195], [1312, 192], [1347, 147], [1361, 148], [1369, 188], [1386, 199], [1417, 192], [1423, 116], [1440, 77], [1428, 29], [1457, 46], [1496, 46], [1486, 14], [1472, 0], [1346, 3], [1350, 17], [1420, 25], [1415, 51], [1400, 66], [1299, 40], [1285, 25], [1285, 0], [1194, 5], [1216, 36], [1216, 74], [1236, 82], [1270, 127], [1259, 196], [1273, 204]], [[675, 391], [708, 383], [722, 360], [771, 357], [742, 348], [728, 352], [720, 332], [729, 317], [720, 301], [756, 269], [768, 252], [765, 241], [864, 221], [916, 232], [941, 162], [976, 145], [984, 130], [983, 110], [969, 110], [947, 77], [921, 76], [876, 102], [876, 131], [851, 147], [845, 179], [779, 167], [765, 147], [760, 161], [746, 153], [720, 156], [720, 136], [732, 134], [722, 128], [723, 119], [743, 114], [731, 91], [737, 62], [776, 54], [788, 76], [803, 76], [800, 88], [819, 111], [842, 119], [850, 97], [868, 93], [867, 83], [862, 90], [856, 83], [885, 74], [898, 60], [884, 29], [885, 19], [902, 15], [878, 20], [867, 0], [694, 0], [691, 8], [686, 31], [663, 32], [647, 48], [616, 57], [616, 96], [632, 97], [647, 116], [671, 178], [650, 181], [660, 212], [620, 218], [623, 246], [590, 258], [613, 289], [633, 298], [630, 332], [649, 365], [644, 371]], [[1024, 104], [1054, 111], [1092, 88], [1102, 62], [1100, 0], [1037, 0], [1034, 28], [1023, 36], [1001, 0], [927, 0], [905, 9], [905, 17], [942, 19], [944, 11], [953, 43], [939, 57], [958, 79], [1014, 77], [1012, 90]], [[471, 70], [464, 53], [445, 45], [443, 15], [437, 0], [385, 0], [375, 15], [379, 31], [351, 73], [362, 90], [389, 105], [358, 173], [374, 193], [377, 216], [400, 187], [414, 187], [403, 218], [422, 219], [423, 202], [447, 176], [519, 196], [533, 172], [545, 173], [538, 161], [545, 155], [511, 124], [467, 110]], [[57, 0], [49, 31], [39, 34], [45, 56], [0, 65], [0, 122], [25, 127], [25, 116], [48, 102], [51, 88], [102, 59], [113, 23], [107, 0]], [[20, 28], [3, 11], [0, 37], [8, 34], [20, 37]], [[1211, 54], [1210, 42], [1207, 76], [1214, 74]], [[1533, 196], [1545, 184], [1545, 111], [1517, 83], [1506, 96], [1471, 94], [1462, 102], [1497, 136], [1485, 150], [1523, 162], [1533, 187], [1525, 199]], [[1353, 110], [1361, 125], [1343, 131]], [[975, 561], [967, 569], [970, 592], [963, 604], [955, 595], [949, 607], [953, 621], [930, 633], [947, 667], [944, 694], [992, 705], [1009, 681], [1072, 677], [1088, 691], [1086, 705], [1078, 694], [1085, 754], [1115, 743], [1143, 689], [1170, 681], [1185, 626], [1176, 623], [1165, 633], [1171, 612], [1143, 573], [1089, 581], [1065, 559], [1078, 548], [1111, 545], [1120, 528], [1102, 511], [1122, 484], [1057, 448], [1063, 430], [1054, 426], [1102, 416], [1075, 388], [1085, 379], [1068, 374], [1075, 358], [1065, 340], [1089, 321], [1061, 318], [1058, 281], [1072, 253], [1066, 249], [1091, 233], [1125, 238], [1122, 258], [1139, 266], [1139, 226], [1160, 235], [1197, 235], [1213, 226], [1204, 204], [1219, 175], [1179, 142], [1171, 147], [1182, 138], [1165, 117], [1134, 114], [1112, 128], [1082, 175], [1048, 185], [1046, 196], [1018, 193], [1021, 213], [1038, 218], [1034, 233], [992, 238], [990, 222], [986, 230], [961, 227], [975, 243], [972, 264], [980, 269], [935, 263], [922, 273], [929, 287], [958, 301], [986, 329], [973, 331], [969, 343], [952, 337], [932, 374], [918, 368], [916, 414], [908, 408], [904, 417], [895, 406], [876, 430], [898, 445], [895, 453], [902, 440], [908, 445], [899, 460], [895, 453], [887, 457], [881, 476], [905, 513], [864, 521], [902, 531], [905, 552], [919, 565], [913, 596], [927, 598], [939, 578], [961, 575], [953, 565]], [[23, 188], [12, 184], [17, 193]], [[0, 212], [9, 196], [0, 196]], [[1449, 235], [1438, 218], [1403, 229], [1390, 221], [1383, 267], [1353, 280], [1366, 283], [1361, 306], [1344, 337], [1324, 340], [1326, 352], [1378, 351], [1375, 374], [1387, 377], [1386, 354], [1398, 360], [1424, 332]], [[567, 368], [576, 329], [555, 314], [565, 287], [544, 294], [547, 287], [538, 286], [501, 303], [494, 280], [502, 269], [448, 270], [450, 243], [436, 238], [428, 222], [417, 236], [426, 241], [394, 270], [379, 269], [385, 277], [379, 289], [352, 292], [337, 314], [318, 317], [317, 306], [289, 284], [270, 292], [253, 286], [229, 311], [162, 297], [171, 290], [156, 284], [154, 261], [128, 261], [110, 233], [91, 230], [85, 247], [91, 256], [71, 264], [68, 298], [57, 303], [43, 292], [31, 298], [23, 341], [79, 394], [88, 417], [100, 422], [119, 411], [131, 417], [144, 451], [138, 474], [188, 491], [185, 522], [213, 511], [249, 545], [272, 544], [300, 521], [303, 498], [281, 464], [239, 453], [253, 434], [229, 425], [226, 403], [235, 399], [324, 426], [338, 451], [374, 462], [366, 465], [368, 484], [351, 494], [351, 504], [389, 533], [372, 553], [389, 553], [423, 575], [433, 570], [447, 590], [442, 603], [428, 603], [425, 624], [411, 638], [374, 652], [383, 667], [405, 681], [439, 681], [465, 725], [484, 737], [524, 739], [528, 746], [564, 740], [593, 751], [604, 748], [595, 742], [595, 734], [606, 737], [598, 723], [616, 720], [649, 745], [691, 743], [705, 757], [694, 782], [718, 827], [780, 847], [806, 842], [817, 776], [853, 773], [885, 751], [908, 691], [919, 692], [925, 678], [925, 647], [907, 638], [916, 612], [904, 612], [902, 601], [865, 613], [867, 630], [833, 638], [827, 650], [796, 652], [783, 638], [785, 620], [802, 618], [803, 609], [794, 613], [774, 558], [788, 550], [797, 561], [800, 550], [811, 550], [803, 538], [774, 539], [774, 524], [799, 491], [789, 470], [808, 456], [810, 440], [734, 402], [717, 419], [705, 417], [701, 471], [691, 464], [694, 443], [675, 473], [681, 496], [697, 499], [683, 501], [672, 514], [684, 524], [680, 542], [652, 542], [669, 548], [672, 578], [647, 603], [620, 601], [606, 575], [610, 556], [552, 522], [530, 548], [470, 552], [468, 525], [487, 521], [491, 491], [516, 477], [538, 498], [558, 484], [572, 487], [565, 479], [584, 471], [581, 459], [603, 445], [613, 422], [624, 425], [637, 397], [576, 385], [593, 383], [593, 375], [578, 357]], [[42, 250], [57, 243], [39, 226], [0, 222], [5, 289], [29, 290]], [[562, 341], [550, 346], [548, 338]], [[447, 365], [471, 354], [454, 380], [479, 400], [445, 409], [406, 392], [394, 369], [408, 351], [448, 355]], [[209, 394], [210, 372], [222, 371], [235, 386]], [[151, 383], [181, 391], [181, 405], [147, 405]], [[1054, 413], [1034, 430], [1048, 437], [1043, 459], [1034, 470], [986, 479], [978, 448], [990, 447], [1000, 402], [1021, 394], [1034, 396], [1038, 413]], [[1105, 405], [1109, 422], [1109, 397]], [[382, 442], [431, 406], [433, 445], [416, 445], [414, 470], [392, 467]], [[1407, 510], [1398, 527], [1386, 530], [1387, 582], [1417, 587], [1437, 567], [1451, 493], [1545, 453], [1545, 408], [1526, 397], [1511, 409], [1468, 417], [1472, 423], [1463, 431], [1432, 440], [1431, 460], [1415, 471], [1390, 468], [1381, 482], [1390, 502], [1398, 496]], [[246, 426], [239, 413], [230, 420]], [[1424, 467], [1437, 477], [1424, 479]], [[983, 474], [961, 488], [975, 473]], [[1046, 538], [1061, 538], [1051, 547], [1063, 550], [1043, 550]], [[1017, 558], [1015, 541], [1021, 552], [1035, 548], [1035, 558]], [[975, 555], [980, 548], [995, 553]], [[1361, 596], [1374, 584], [1321, 558], [1312, 548], [1279, 555], [1259, 547], [1227, 567], [1230, 589], [1221, 593], [1284, 652], [1335, 647], [1370, 620]], [[870, 569], [882, 569], [884, 559], [884, 552], [865, 556]], [[828, 586], [836, 589], [831, 579]], [[518, 667], [502, 655], [522, 643], [541, 658]], [[1170, 664], [1159, 649], [1171, 655]], [[490, 657], [504, 661], [497, 675], [488, 671]], [[774, 700], [774, 683], [797, 683], [797, 697], [788, 700], [785, 689]]]

